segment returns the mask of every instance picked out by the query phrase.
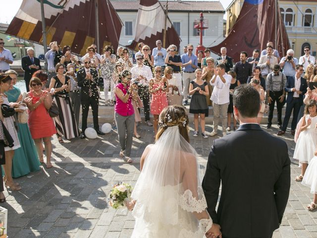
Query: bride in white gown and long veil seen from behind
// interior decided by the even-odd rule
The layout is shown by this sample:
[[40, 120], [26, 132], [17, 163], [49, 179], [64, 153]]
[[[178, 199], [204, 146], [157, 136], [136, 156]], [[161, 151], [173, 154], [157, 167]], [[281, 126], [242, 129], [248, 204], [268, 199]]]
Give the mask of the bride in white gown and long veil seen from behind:
[[159, 115], [156, 143], [144, 150], [133, 200], [127, 204], [135, 217], [131, 238], [221, 237], [206, 210], [188, 123], [181, 106], [166, 107]]

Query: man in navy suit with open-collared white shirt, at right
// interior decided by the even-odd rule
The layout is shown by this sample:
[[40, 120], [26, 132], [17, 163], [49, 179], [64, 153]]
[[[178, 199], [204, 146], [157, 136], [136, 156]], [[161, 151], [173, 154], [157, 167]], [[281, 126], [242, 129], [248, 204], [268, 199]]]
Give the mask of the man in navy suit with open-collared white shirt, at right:
[[295, 76], [287, 77], [286, 80], [286, 85], [284, 88], [284, 90], [287, 92], [285, 117], [282, 128], [277, 132], [277, 135], [282, 135], [285, 133], [292, 111], [293, 119], [291, 124], [291, 134], [295, 135], [298, 113], [301, 106], [303, 105], [303, 96], [307, 92], [306, 79], [301, 77], [302, 73], [304, 72], [303, 65], [297, 64], [295, 66], [295, 70]]

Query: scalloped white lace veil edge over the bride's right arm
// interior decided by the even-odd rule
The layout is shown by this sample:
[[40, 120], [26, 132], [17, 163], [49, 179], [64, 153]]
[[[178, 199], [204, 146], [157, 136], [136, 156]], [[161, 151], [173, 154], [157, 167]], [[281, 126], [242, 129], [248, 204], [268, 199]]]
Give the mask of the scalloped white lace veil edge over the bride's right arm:
[[188, 212], [197, 213], [201, 213], [207, 208], [205, 196], [203, 195], [201, 199], [197, 200], [195, 197], [193, 197], [193, 193], [189, 189], [187, 189], [184, 194], [180, 195], [179, 205], [182, 209]]

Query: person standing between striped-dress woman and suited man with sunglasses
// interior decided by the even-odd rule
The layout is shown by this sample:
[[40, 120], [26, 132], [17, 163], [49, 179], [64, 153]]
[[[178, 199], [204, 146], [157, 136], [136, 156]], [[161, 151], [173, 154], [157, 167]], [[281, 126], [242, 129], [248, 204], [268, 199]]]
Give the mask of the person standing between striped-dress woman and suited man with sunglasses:
[[80, 114], [80, 87], [77, 83], [77, 76], [75, 73], [75, 64], [69, 63], [67, 64], [67, 72], [65, 76], [68, 76], [70, 79], [70, 91], [69, 98], [71, 102], [71, 107], [74, 112], [75, 120], [77, 126], [79, 125], [79, 114]]

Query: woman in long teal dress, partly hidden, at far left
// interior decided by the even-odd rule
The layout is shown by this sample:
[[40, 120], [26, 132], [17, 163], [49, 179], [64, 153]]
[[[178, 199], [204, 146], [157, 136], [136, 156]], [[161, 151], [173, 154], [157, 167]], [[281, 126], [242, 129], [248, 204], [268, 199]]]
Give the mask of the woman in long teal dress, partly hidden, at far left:
[[[17, 73], [14, 70], [8, 70], [6, 73], [12, 78], [14, 85], [17, 80]], [[10, 103], [16, 103], [22, 99], [20, 89], [15, 86], [13, 86], [13, 88], [9, 91], [5, 92], [5, 95], [8, 97]], [[13, 178], [27, 175], [30, 172], [39, 171], [41, 165], [28, 123], [17, 123], [17, 125], [17, 132], [21, 147], [14, 151], [14, 157], [12, 161]]]

